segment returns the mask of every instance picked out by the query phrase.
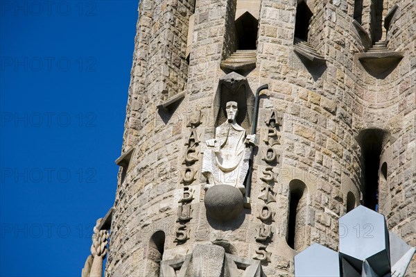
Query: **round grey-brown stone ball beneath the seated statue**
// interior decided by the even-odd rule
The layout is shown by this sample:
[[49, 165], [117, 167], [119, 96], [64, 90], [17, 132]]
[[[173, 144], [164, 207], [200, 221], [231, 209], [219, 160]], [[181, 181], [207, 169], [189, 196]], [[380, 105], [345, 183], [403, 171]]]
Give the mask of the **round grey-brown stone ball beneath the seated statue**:
[[243, 194], [231, 185], [214, 185], [205, 192], [205, 208], [216, 221], [235, 219], [243, 210]]

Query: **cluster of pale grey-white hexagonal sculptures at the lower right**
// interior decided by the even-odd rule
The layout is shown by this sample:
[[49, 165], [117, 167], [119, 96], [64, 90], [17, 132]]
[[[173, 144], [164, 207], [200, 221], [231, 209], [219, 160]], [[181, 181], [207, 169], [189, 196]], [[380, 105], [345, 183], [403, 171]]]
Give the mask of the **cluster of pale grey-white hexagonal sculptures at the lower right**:
[[403, 277], [416, 251], [363, 205], [340, 217], [339, 230], [340, 253], [309, 246], [295, 256], [295, 277]]

